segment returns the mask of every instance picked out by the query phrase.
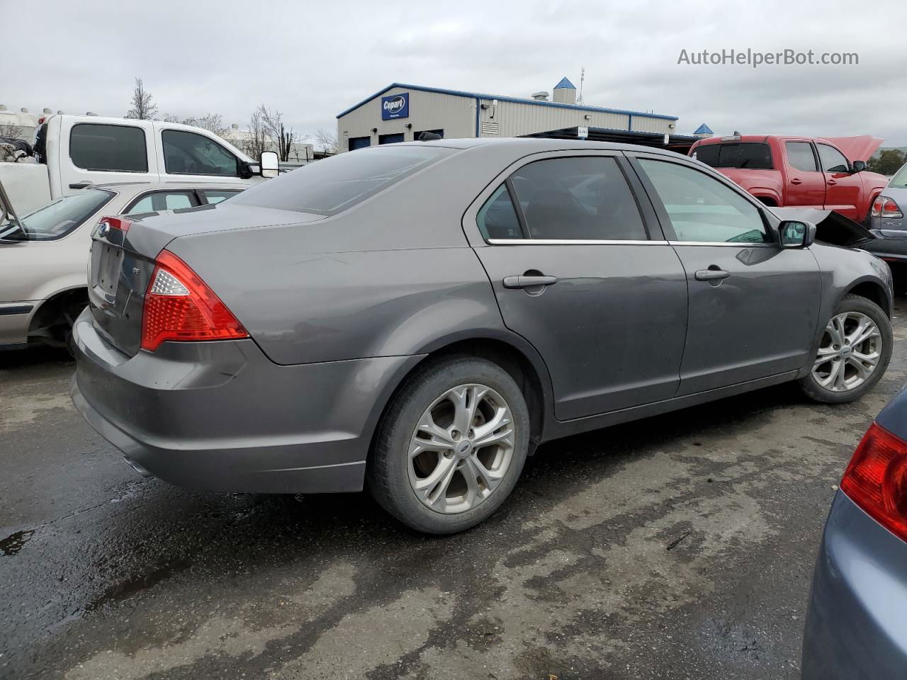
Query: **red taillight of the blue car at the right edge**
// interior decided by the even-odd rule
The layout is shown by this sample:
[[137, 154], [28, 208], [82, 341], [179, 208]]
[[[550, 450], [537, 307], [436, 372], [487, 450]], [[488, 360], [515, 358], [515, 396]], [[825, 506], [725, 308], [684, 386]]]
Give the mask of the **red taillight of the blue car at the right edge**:
[[841, 491], [907, 540], [907, 442], [873, 423], [844, 471]]

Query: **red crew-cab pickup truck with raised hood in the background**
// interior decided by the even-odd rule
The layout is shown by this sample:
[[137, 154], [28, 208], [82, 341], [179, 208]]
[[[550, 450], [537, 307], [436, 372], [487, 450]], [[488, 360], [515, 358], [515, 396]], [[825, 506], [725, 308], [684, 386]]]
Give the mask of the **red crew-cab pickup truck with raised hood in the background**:
[[748, 134], [700, 140], [689, 155], [769, 206], [837, 210], [863, 222], [888, 183], [865, 170], [883, 142], [871, 135], [818, 139]]

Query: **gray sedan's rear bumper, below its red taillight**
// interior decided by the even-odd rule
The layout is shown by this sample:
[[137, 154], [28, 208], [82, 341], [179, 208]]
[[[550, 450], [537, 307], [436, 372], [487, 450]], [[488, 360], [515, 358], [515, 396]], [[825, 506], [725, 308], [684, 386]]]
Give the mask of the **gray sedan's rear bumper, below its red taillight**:
[[360, 491], [382, 407], [421, 358], [273, 364], [251, 340], [127, 358], [86, 310], [70, 392], [137, 470], [204, 491]]

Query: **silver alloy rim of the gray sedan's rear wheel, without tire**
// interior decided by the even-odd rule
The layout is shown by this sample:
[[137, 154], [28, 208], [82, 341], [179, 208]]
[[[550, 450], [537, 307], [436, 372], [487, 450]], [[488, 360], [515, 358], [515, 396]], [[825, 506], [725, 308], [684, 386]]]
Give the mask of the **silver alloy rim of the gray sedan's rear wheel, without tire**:
[[409, 446], [409, 483], [437, 512], [472, 510], [491, 496], [513, 458], [513, 415], [483, 384], [448, 390], [425, 409]]

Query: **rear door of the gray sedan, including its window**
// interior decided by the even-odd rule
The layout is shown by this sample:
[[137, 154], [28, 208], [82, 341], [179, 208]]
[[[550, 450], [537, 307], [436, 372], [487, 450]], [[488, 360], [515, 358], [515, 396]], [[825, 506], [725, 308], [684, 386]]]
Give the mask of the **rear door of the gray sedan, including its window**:
[[651, 206], [640, 209], [629, 163], [574, 153], [518, 166], [492, 182], [463, 224], [504, 324], [548, 366], [556, 417], [672, 397], [687, 285]]

